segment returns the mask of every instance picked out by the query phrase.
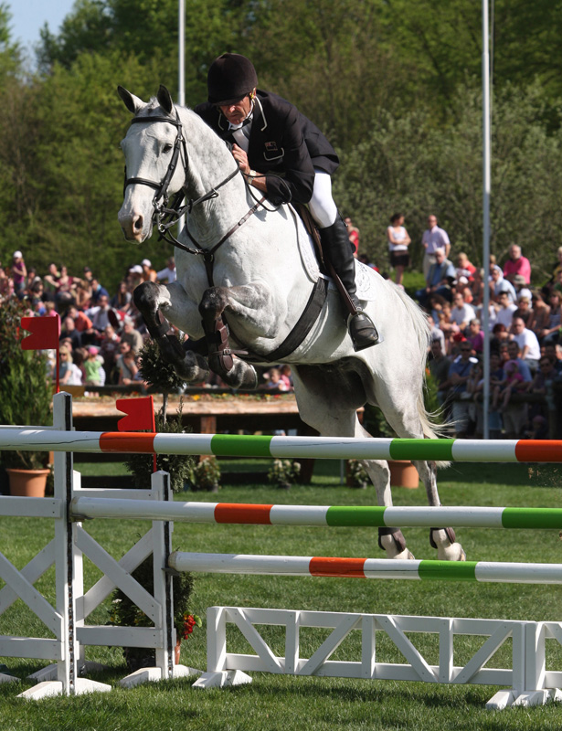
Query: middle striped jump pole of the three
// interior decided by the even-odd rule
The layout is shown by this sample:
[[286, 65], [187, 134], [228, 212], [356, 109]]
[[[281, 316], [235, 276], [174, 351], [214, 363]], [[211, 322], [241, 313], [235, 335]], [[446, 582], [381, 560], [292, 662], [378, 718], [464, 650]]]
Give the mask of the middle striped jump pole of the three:
[[562, 508], [378, 507], [372, 505], [257, 505], [246, 503], [154, 503], [77, 497], [75, 520], [117, 518], [184, 523], [317, 525], [334, 527], [562, 528]]

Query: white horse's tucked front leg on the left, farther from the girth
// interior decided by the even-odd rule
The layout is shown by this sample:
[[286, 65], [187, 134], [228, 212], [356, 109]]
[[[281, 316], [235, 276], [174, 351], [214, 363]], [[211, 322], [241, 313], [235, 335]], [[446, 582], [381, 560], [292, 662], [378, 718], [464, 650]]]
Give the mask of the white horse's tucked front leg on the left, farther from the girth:
[[[134, 290], [133, 299], [166, 363], [174, 365], [177, 375], [185, 378], [187, 383], [204, 381], [209, 374], [207, 361], [192, 350], [193, 341], [186, 340], [182, 345], [175, 335], [168, 334], [170, 323], [162, 313], [162, 309], [173, 312], [178, 308], [184, 312], [186, 318], [188, 317], [186, 309], [190, 303], [187, 302], [186, 296], [180, 297], [182, 302], [175, 302], [180, 293], [175, 285], [145, 281]], [[195, 303], [191, 306], [196, 313]], [[179, 326], [183, 329], [183, 323], [179, 323]]]

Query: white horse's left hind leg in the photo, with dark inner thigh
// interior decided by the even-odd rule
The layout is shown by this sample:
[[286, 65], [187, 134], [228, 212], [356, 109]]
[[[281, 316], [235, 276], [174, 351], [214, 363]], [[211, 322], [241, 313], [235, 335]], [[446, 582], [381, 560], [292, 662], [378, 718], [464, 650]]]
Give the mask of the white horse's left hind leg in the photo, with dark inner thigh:
[[[355, 437], [369, 439], [371, 435], [359, 423], [356, 408], [363, 405], [363, 388], [354, 375], [322, 365], [292, 366], [295, 395], [302, 420], [323, 437]], [[390, 471], [387, 461], [362, 460], [376, 490], [379, 505], [390, 507]], [[379, 528], [378, 546], [388, 558], [413, 558], [402, 531]]]

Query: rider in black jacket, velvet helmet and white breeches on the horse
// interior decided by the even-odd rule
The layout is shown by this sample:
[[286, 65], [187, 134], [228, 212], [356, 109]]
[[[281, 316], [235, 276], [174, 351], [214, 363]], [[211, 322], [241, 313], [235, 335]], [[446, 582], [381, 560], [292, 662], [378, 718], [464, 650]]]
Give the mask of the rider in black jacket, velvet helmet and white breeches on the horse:
[[351, 298], [347, 326], [354, 348], [376, 345], [378, 333], [357, 298], [355, 259], [332, 197], [330, 175], [339, 164], [334, 148], [296, 107], [257, 86], [258, 76], [249, 58], [225, 53], [211, 64], [208, 101], [198, 104], [195, 111], [233, 144], [232, 154], [249, 185], [267, 194], [275, 205], [308, 203], [324, 257]]

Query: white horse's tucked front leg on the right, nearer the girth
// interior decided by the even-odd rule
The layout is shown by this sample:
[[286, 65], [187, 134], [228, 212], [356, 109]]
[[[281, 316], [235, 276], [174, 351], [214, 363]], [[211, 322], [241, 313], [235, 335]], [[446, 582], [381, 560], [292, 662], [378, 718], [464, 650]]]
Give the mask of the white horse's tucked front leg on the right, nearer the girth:
[[[267, 334], [273, 326], [268, 288], [260, 285], [210, 287], [199, 303], [203, 329], [207, 336], [208, 361], [215, 373], [235, 388], [258, 387], [253, 365], [232, 355], [228, 343], [228, 327], [223, 313], [236, 313], [245, 320], [246, 330]], [[270, 322], [271, 321], [271, 322]]]

